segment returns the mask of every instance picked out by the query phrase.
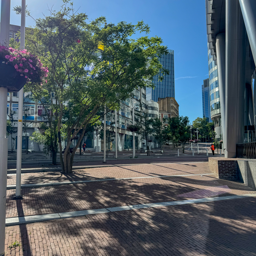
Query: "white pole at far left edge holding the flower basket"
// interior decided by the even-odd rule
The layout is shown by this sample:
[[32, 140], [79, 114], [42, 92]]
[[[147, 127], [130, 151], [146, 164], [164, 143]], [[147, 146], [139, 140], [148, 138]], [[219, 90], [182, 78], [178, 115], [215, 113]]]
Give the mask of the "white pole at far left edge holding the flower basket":
[[[9, 47], [11, 0], [1, 1], [0, 44]], [[6, 220], [6, 186], [8, 139], [6, 138], [7, 120], [6, 88], [0, 87], [0, 256], [4, 255], [5, 220]]]

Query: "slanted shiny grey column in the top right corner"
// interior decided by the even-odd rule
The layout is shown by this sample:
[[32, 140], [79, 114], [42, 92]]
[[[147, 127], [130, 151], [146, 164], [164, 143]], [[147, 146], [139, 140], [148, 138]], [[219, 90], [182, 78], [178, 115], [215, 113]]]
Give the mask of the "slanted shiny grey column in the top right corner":
[[253, 53], [254, 63], [256, 65], [256, 1], [255, 0], [239, 0], [241, 12], [244, 18], [250, 47]]

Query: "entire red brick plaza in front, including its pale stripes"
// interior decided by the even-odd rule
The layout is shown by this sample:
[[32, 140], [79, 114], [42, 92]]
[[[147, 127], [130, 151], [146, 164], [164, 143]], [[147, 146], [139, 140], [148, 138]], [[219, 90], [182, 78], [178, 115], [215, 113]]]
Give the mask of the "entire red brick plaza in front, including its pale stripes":
[[22, 200], [9, 174], [6, 255], [256, 256], [253, 189], [215, 178], [200, 157], [141, 162], [24, 173]]

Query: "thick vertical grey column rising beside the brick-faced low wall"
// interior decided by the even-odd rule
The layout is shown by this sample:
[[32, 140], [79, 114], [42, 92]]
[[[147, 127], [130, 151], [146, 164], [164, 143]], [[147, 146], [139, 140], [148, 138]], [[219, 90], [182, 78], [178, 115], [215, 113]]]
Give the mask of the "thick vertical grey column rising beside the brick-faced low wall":
[[226, 0], [226, 158], [244, 142], [246, 31], [239, 0]]

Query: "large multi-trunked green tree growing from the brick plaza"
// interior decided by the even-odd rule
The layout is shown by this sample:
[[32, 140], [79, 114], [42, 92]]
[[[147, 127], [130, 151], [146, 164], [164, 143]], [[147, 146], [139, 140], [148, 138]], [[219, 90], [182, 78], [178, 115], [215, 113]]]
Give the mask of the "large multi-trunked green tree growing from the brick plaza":
[[[167, 53], [162, 39], [134, 39], [138, 32], [148, 33], [148, 25], [106, 24], [104, 17], [90, 23], [86, 20], [87, 15], [77, 13], [72, 3], [64, 0], [59, 12], [51, 11], [50, 16], [35, 20], [35, 28], [26, 33], [26, 48], [49, 69], [47, 84], [39, 88], [29, 85], [27, 90], [38, 101], [49, 91], [54, 93], [53, 125], [57, 123], [60, 151], [61, 128], [66, 125], [67, 147], [64, 155], [60, 155], [64, 173], [72, 172], [76, 149], [87, 125], [100, 118], [98, 111], [105, 105], [111, 110], [117, 108], [120, 100], [132, 95], [134, 88], [153, 86], [155, 75], [163, 80], [162, 75], [168, 73], [157, 58]], [[81, 130], [71, 154], [72, 140]]]

